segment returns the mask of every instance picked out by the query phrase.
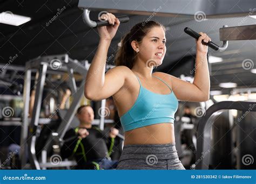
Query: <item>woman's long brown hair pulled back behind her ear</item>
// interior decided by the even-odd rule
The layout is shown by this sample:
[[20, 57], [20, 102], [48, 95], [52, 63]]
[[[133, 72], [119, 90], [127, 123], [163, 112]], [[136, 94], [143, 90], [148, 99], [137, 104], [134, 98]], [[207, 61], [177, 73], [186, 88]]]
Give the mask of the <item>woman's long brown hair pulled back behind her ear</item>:
[[137, 53], [133, 50], [131, 43], [133, 40], [141, 43], [142, 39], [153, 27], [162, 27], [165, 31], [165, 27], [158, 22], [149, 21], [141, 22], [134, 25], [129, 33], [121, 41], [114, 63], [116, 66], [126, 66], [132, 69]]

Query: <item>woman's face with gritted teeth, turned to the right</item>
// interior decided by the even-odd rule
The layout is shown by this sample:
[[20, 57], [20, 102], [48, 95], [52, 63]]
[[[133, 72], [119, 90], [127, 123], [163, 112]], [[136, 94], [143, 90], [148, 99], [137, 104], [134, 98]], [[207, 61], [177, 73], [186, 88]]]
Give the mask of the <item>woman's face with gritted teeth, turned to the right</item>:
[[147, 66], [159, 66], [166, 52], [166, 38], [162, 27], [153, 27], [139, 44], [139, 57]]

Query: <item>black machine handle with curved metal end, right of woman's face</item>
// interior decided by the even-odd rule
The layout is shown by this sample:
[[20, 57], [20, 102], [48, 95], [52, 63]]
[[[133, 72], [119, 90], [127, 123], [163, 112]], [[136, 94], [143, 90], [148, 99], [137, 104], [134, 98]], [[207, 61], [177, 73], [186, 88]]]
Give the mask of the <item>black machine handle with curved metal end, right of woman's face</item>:
[[[223, 27], [227, 27], [227, 26], [223, 26]], [[198, 39], [201, 36], [196, 31], [190, 29], [189, 27], [185, 27], [184, 32], [187, 33], [188, 35], [190, 35], [191, 37], [196, 38], [196, 39]], [[223, 46], [222, 47], [218, 46], [217, 44], [213, 43], [212, 41], [209, 41], [208, 43], [205, 43], [204, 41], [202, 41], [202, 43], [211, 47], [215, 51], [225, 51], [225, 49], [228, 46], [228, 41], [223, 41]]]

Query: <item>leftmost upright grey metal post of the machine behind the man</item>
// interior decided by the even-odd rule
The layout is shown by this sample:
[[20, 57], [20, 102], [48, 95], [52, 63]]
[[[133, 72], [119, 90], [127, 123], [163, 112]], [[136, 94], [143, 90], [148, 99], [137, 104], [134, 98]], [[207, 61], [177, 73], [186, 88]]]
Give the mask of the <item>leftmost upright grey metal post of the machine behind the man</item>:
[[26, 164], [26, 153], [28, 150], [25, 149], [26, 140], [28, 138], [28, 127], [29, 127], [29, 99], [30, 99], [30, 86], [31, 86], [31, 69], [26, 70], [23, 88], [23, 126], [21, 128], [21, 153], [19, 158], [21, 159], [21, 168]]

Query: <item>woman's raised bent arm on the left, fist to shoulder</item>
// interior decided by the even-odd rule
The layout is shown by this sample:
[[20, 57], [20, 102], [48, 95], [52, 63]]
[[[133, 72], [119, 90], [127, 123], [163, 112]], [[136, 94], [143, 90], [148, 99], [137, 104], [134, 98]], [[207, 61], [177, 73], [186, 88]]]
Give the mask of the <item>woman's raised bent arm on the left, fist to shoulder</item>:
[[98, 27], [100, 41], [97, 52], [87, 72], [84, 87], [85, 97], [95, 101], [103, 100], [117, 93], [124, 84], [125, 70], [127, 70], [127, 67], [119, 66], [110, 69], [105, 74], [107, 51], [120, 24], [119, 20], [111, 13], [108, 13], [108, 17], [110, 24], [116, 24], [113, 26]]

